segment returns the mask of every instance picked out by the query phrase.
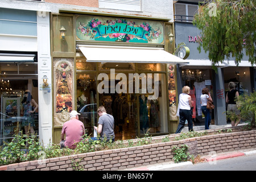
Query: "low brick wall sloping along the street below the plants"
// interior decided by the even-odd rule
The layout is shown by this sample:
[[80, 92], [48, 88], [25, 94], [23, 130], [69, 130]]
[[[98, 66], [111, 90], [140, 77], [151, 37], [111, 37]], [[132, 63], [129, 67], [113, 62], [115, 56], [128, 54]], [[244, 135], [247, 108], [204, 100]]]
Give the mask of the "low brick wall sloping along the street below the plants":
[[88, 171], [111, 170], [140, 167], [149, 164], [170, 162], [174, 158], [172, 147], [189, 146], [189, 153], [195, 156], [209, 155], [209, 152], [228, 152], [246, 148], [256, 148], [256, 130], [241, 131], [195, 137], [178, 141], [153, 143], [145, 146], [119, 148], [89, 152], [60, 158], [35, 160], [0, 166], [1, 170], [14, 171], [72, 171], [75, 164]]

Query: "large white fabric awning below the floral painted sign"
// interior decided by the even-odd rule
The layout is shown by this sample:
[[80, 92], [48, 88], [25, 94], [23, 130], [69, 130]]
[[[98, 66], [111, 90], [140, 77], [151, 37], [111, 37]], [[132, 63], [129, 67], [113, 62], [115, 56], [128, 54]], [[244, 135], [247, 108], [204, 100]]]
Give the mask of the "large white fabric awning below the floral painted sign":
[[88, 62], [188, 63], [163, 48], [78, 45]]

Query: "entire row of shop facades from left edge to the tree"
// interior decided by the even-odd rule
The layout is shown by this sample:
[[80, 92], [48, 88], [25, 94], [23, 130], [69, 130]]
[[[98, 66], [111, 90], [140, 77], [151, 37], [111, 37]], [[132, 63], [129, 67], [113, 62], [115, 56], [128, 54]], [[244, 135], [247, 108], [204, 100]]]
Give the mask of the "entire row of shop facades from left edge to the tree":
[[[191, 87], [195, 99], [197, 86], [203, 83], [210, 89], [216, 125], [226, 123], [229, 81], [237, 82], [241, 93], [255, 88], [255, 69], [246, 57], [240, 67], [225, 60], [215, 73], [207, 53], [198, 53], [197, 42], [203, 40], [191, 23], [196, 2], [123, 3], [2, 0], [1, 144], [11, 140], [17, 123], [24, 132], [22, 107], [28, 90], [39, 106], [31, 115], [32, 127], [47, 146], [59, 143], [71, 110], [81, 113], [90, 135], [97, 125], [97, 108], [103, 105], [115, 118], [116, 139], [132, 139], [146, 132], [175, 133], [177, 96], [184, 85]], [[180, 43], [189, 55], [187, 49], [174, 52]], [[195, 104], [193, 118], [201, 125]]]

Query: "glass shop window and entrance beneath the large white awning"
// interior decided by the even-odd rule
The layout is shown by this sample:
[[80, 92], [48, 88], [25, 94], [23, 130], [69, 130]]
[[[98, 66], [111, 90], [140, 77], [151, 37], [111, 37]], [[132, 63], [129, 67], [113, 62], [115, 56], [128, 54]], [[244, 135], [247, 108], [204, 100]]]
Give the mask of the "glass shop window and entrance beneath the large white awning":
[[[166, 73], [147, 72], [164, 71], [165, 66], [154, 64], [152, 70], [144, 69], [146, 73], [143, 73], [143, 69], [138, 71], [141, 65], [98, 63], [98, 72], [78, 71], [77, 68], [77, 110], [81, 113], [80, 120], [84, 122], [88, 134], [92, 134], [93, 126], [97, 126], [97, 106], [101, 105], [115, 119], [117, 140], [137, 138], [147, 131], [151, 134], [168, 133]], [[145, 68], [149, 67], [146, 65]], [[96, 85], [96, 80], [102, 75], [104, 79], [98, 80]], [[131, 78], [130, 75], [135, 77]], [[105, 77], [108, 78], [107, 82], [102, 82]], [[144, 77], [146, 82], [142, 82]], [[136, 79], [139, 81], [138, 88]], [[143, 86], [144, 83], [146, 86]], [[129, 89], [131, 85], [133, 87]]]

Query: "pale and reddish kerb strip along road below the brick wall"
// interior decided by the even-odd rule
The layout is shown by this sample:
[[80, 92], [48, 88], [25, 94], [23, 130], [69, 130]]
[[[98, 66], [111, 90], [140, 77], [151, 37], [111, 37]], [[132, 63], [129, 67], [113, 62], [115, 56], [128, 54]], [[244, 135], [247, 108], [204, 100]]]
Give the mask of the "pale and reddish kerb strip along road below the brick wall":
[[[204, 158], [205, 162], [213, 162], [216, 160], [235, 158], [235, 157], [243, 156], [243, 155], [256, 155], [256, 148], [250, 148], [250, 149], [232, 151], [232, 152], [223, 152], [223, 153], [214, 154], [214, 155], [201, 156], [201, 159]], [[166, 162], [166, 163], [161, 163], [161, 164], [152, 164], [152, 165], [148, 165], [148, 166], [141, 166], [141, 167], [137, 167], [137, 168], [123, 169], [121, 171], [161, 171], [166, 168], [171, 169], [171, 168], [175, 168], [175, 167], [189, 166], [189, 165], [192, 166], [193, 163], [190, 161], [180, 162], [180, 163]]]

